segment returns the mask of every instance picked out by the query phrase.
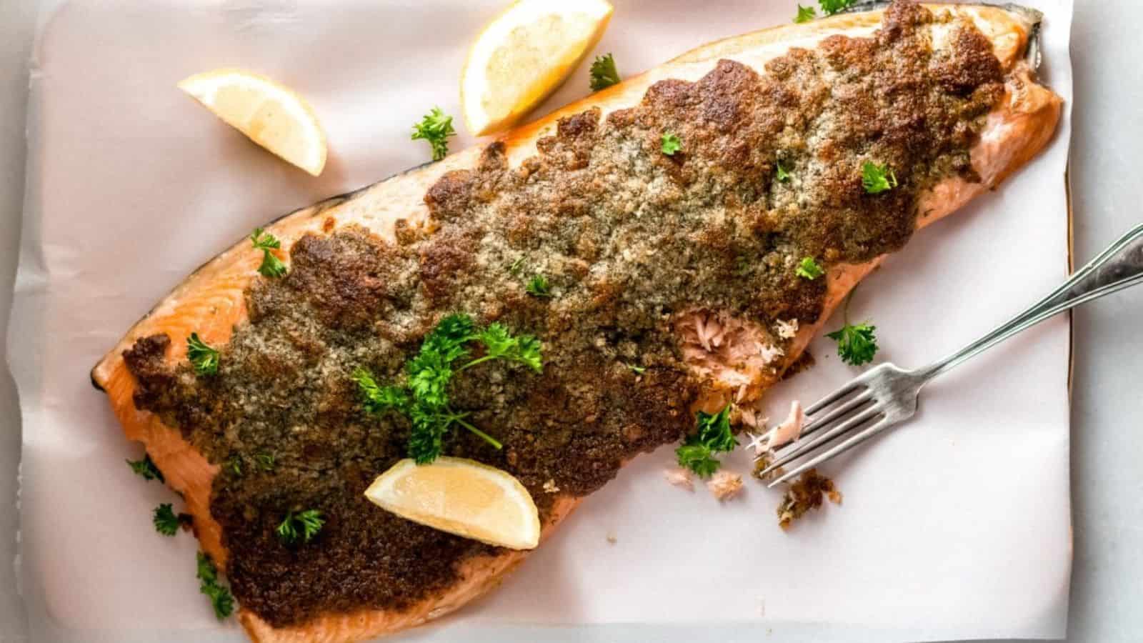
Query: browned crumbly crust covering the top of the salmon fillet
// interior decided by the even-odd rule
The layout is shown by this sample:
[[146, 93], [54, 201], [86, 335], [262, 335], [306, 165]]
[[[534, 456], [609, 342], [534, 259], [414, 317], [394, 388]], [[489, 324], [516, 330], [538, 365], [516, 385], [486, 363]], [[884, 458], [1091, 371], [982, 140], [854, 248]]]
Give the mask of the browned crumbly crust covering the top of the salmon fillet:
[[[353, 375], [401, 381], [446, 315], [544, 347], [542, 373], [489, 360], [451, 379], [451, 407], [503, 448], [454, 430], [441, 450], [509, 471], [547, 519], [557, 497], [591, 493], [636, 453], [695, 428], [704, 382], [681, 360], [680, 315], [808, 325], [826, 279], [799, 276], [804, 257], [828, 272], [901, 247], [920, 190], [974, 178], [969, 149], [1002, 79], [972, 27], [952, 25], [951, 50], [935, 56], [918, 27], [945, 18], [909, 3], [885, 16], [874, 38], [833, 35], [765, 74], [720, 61], [696, 82], [656, 82], [606, 119], [565, 118], [519, 166], [493, 143], [477, 167], [429, 190], [431, 235], [405, 227], [387, 244], [344, 225], [302, 237], [288, 272], [250, 286], [249, 322], [213, 347], [210, 376], [171, 366], [169, 338], [138, 340], [125, 354], [136, 405], [210, 462], [246, 462], [241, 476], [222, 469], [210, 501], [242, 606], [279, 627], [399, 610], [455, 582], [463, 561], [497, 551], [362, 495], [406, 457], [411, 423], [370, 413]], [[681, 143], [673, 154], [666, 132]], [[870, 159], [893, 168], [895, 188], [866, 192]], [[520, 257], [526, 268], [506, 269]], [[529, 294], [535, 275], [557, 296]], [[255, 466], [263, 453], [274, 455], [269, 470]], [[282, 542], [275, 530], [297, 510], [319, 511], [320, 532]]]

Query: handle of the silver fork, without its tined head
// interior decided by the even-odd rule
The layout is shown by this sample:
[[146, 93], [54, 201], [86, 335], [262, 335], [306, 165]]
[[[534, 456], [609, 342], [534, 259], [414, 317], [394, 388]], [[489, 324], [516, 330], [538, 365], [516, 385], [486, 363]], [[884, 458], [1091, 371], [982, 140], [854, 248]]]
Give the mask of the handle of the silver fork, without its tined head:
[[944, 359], [920, 368], [918, 374], [928, 381], [1048, 317], [1138, 283], [1143, 283], [1143, 224], [1108, 246], [1058, 288], [1016, 317]]

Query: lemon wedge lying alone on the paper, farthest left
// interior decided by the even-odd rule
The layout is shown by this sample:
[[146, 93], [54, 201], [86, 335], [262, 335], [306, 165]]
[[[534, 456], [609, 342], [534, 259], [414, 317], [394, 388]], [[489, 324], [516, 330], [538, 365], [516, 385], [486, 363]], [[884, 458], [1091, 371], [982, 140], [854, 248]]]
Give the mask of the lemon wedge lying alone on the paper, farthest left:
[[194, 74], [178, 88], [286, 161], [314, 176], [325, 169], [326, 134], [310, 105], [289, 88], [232, 69]]

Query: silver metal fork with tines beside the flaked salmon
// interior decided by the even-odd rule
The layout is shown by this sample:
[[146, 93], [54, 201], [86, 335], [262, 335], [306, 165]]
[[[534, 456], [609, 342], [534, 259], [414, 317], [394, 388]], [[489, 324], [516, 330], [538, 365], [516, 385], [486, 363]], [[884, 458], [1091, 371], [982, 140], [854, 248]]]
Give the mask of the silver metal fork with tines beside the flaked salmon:
[[1046, 297], [944, 359], [916, 371], [881, 364], [817, 400], [806, 408], [806, 424], [798, 439], [780, 448], [761, 475], [801, 460], [794, 468], [778, 471], [781, 475], [768, 485], [774, 486], [849, 451], [917, 413], [921, 387], [933, 378], [1053, 315], [1141, 281], [1143, 224], [1111, 244]]

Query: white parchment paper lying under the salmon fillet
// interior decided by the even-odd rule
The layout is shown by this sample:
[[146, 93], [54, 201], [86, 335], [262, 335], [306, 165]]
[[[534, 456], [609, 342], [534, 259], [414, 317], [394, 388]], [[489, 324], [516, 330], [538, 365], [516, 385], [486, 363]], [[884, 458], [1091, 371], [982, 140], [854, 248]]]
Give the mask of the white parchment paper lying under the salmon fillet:
[[[34, 641], [191, 641], [219, 628], [198, 594], [194, 541], [151, 526], [151, 509], [173, 494], [123, 465], [139, 450], [87, 371], [171, 286], [255, 225], [425, 160], [409, 125], [433, 104], [459, 112], [464, 49], [499, 2], [331, 7], [85, 0], [43, 21], [9, 335]], [[1037, 7], [1047, 14], [1045, 76], [1070, 105], [1071, 2]], [[632, 73], [786, 22], [792, 9], [620, 1], [597, 51]], [[216, 66], [261, 71], [313, 103], [330, 140], [321, 178], [257, 150], [174, 89]], [[584, 66], [549, 106], [586, 93]], [[850, 315], [877, 324], [879, 360], [938, 357], [1058, 283], [1068, 135], [1065, 114], [1046, 154], [866, 280]], [[471, 142], [462, 135], [454, 149]], [[854, 374], [832, 342], [810, 350], [818, 365], [770, 394], [775, 415]], [[1062, 636], [1068, 350], [1066, 322], [1056, 319], [934, 383], [908, 428], [830, 467], [845, 505], [790, 533], [775, 526], [778, 495], [761, 485], [748, 481], [743, 499], [719, 506], [704, 490], [662, 481], [670, 448], [642, 457], [501, 590], [409, 636], [568, 640], [572, 630], [551, 626], [573, 624], [612, 624], [575, 630], [609, 641]], [[746, 458], [730, 466], [745, 471]], [[218, 634], [240, 640], [233, 624]]]

